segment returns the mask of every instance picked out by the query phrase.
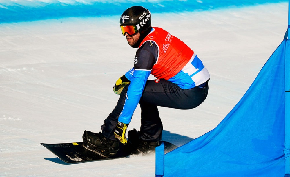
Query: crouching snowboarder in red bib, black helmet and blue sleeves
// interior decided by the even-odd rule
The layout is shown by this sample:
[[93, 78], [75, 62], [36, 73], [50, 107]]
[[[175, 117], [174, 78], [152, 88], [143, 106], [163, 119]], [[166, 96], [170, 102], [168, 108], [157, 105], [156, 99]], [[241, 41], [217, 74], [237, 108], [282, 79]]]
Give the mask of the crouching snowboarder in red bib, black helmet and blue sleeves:
[[[115, 155], [119, 142], [127, 143], [126, 129], [138, 103], [141, 128], [137, 150], [152, 152], [163, 130], [157, 106], [192, 109], [206, 99], [209, 89], [210, 75], [202, 61], [180, 39], [162, 28], [151, 27], [149, 10], [128, 8], [121, 15], [120, 27], [128, 44], [138, 48], [134, 67], [113, 87], [120, 98], [104, 120], [102, 132], [85, 131], [83, 135], [84, 147], [104, 157]], [[150, 74], [157, 79], [148, 80]]]

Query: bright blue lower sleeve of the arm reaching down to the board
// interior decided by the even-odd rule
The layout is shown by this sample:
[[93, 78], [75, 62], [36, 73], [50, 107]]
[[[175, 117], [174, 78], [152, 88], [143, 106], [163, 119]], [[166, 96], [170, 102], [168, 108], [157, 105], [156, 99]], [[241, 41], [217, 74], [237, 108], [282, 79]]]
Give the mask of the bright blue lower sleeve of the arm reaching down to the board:
[[131, 122], [132, 115], [140, 101], [142, 92], [144, 90], [149, 75], [150, 71], [148, 70], [134, 70], [134, 75], [131, 79], [131, 83], [127, 91], [124, 107], [118, 118], [118, 121], [125, 124]]

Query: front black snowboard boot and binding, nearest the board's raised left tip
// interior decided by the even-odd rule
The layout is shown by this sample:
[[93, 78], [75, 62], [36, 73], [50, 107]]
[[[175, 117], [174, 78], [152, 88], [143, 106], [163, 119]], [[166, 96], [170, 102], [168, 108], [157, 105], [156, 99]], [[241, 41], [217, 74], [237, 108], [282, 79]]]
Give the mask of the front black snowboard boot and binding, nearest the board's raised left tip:
[[86, 149], [103, 157], [114, 156], [119, 150], [119, 141], [108, 140], [101, 132], [84, 131], [83, 141], [83, 146]]

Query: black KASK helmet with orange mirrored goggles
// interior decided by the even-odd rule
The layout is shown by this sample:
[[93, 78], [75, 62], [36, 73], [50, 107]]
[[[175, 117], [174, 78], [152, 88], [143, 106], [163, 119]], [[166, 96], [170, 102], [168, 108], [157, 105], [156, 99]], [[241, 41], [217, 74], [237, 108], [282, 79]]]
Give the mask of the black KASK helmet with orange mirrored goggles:
[[126, 32], [133, 35], [138, 31], [146, 31], [151, 26], [151, 14], [142, 6], [130, 7], [121, 15], [120, 26], [123, 35]]

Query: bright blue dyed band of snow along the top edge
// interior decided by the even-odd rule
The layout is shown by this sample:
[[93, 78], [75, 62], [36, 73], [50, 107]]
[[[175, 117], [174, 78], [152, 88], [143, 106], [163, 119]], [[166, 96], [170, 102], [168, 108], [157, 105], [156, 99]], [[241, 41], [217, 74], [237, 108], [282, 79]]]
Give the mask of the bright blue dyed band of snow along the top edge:
[[287, 0], [4, 0], [0, 1], [0, 23], [120, 15], [131, 6], [144, 6], [151, 13], [164, 13], [215, 10], [280, 2], [287, 2]]

